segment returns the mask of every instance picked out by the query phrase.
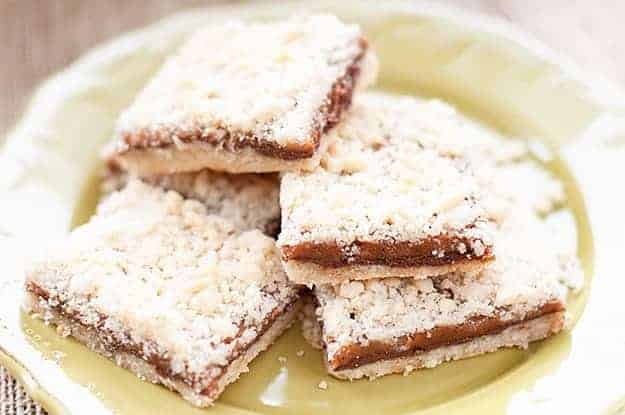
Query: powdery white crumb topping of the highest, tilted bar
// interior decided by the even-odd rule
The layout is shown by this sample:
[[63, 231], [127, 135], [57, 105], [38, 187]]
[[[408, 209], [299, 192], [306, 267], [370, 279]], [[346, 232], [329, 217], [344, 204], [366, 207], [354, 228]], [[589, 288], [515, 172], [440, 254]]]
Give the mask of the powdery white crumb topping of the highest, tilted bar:
[[211, 25], [165, 64], [118, 133], [200, 126], [207, 136], [225, 128], [283, 147], [310, 144], [332, 85], [363, 53], [360, 28], [330, 15]]

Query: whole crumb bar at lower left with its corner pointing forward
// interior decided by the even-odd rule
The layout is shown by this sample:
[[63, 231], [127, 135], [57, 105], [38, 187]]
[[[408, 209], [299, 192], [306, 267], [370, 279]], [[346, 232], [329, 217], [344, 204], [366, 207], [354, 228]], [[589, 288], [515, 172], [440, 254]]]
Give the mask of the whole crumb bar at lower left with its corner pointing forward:
[[273, 239], [132, 180], [26, 276], [26, 307], [207, 406], [296, 318]]

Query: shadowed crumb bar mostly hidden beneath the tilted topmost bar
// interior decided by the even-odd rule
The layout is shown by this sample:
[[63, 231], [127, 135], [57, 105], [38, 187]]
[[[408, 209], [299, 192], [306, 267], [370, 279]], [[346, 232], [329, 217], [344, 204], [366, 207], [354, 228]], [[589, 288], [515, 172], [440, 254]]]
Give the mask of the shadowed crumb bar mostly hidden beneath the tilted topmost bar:
[[[123, 189], [130, 177], [109, 166], [102, 182], [102, 193]], [[274, 238], [280, 231], [280, 183], [276, 174], [229, 174], [205, 169], [142, 180], [201, 202], [208, 214], [229, 220], [239, 230], [259, 229]]]

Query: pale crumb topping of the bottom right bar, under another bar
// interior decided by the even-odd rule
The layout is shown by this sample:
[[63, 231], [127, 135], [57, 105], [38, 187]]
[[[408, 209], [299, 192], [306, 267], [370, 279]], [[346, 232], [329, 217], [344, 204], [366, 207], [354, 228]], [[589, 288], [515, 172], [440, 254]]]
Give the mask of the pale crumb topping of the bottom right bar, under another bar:
[[475, 275], [441, 279], [351, 281], [315, 289], [328, 357], [343, 346], [393, 339], [434, 327], [466, 323], [476, 316], [523, 319], [550, 302], [564, 302], [564, 274], [578, 270], [570, 246], [554, 246], [550, 228], [519, 210], [502, 224], [496, 260]]

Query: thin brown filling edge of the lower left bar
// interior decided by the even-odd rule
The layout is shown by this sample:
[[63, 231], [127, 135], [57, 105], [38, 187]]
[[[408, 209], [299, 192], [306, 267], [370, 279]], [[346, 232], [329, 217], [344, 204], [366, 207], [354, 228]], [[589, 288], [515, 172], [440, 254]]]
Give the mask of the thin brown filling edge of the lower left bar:
[[[50, 294], [45, 289], [41, 288], [37, 284], [33, 282], [28, 282], [26, 284], [26, 290], [33, 293], [37, 298], [48, 302], [51, 299]], [[201, 394], [211, 397], [212, 394], [218, 388], [218, 381], [221, 377], [226, 373], [228, 366], [238, 357], [240, 357], [243, 353], [247, 351], [262, 335], [273, 325], [273, 323], [283, 314], [290, 311], [298, 302], [298, 296], [294, 296], [294, 298], [286, 305], [282, 307], [276, 307], [269, 316], [263, 320], [261, 326], [257, 329], [257, 335], [253, 341], [245, 344], [245, 345], [237, 345], [237, 347], [233, 350], [232, 354], [228, 357], [228, 363], [224, 366], [214, 365], [206, 368], [205, 373], [209, 373], [209, 371], [213, 368], [218, 368], [220, 370], [219, 374], [216, 376], [212, 376], [210, 378], [205, 377], [205, 375], [194, 374], [194, 373], [174, 373], [171, 368], [171, 359], [156, 353], [145, 354], [145, 350], [156, 350], [158, 343], [156, 341], [150, 340], [143, 343], [135, 343], [128, 344], [125, 342], [121, 342], [118, 340], [120, 334], [111, 331], [104, 327], [104, 322], [107, 318], [105, 315], [99, 315], [99, 321], [95, 325], [86, 325], [82, 321], [77, 318], [77, 313], [68, 312], [64, 309], [63, 304], [57, 298], [55, 306], [50, 306], [50, 309], [57, 313], [59, 316], [67, 318], [72, 321], [73, 324], [83, 327], [86, 330], [90, 330], [96, 333], [98, 338], [98, 342], [106, 348], [106, 351], [115, 354], [118, 352], [128, 353], [130, 355], [136, 356], [139, 359], [145, 360], [150, 365], [154, 367], [157, 373], [165, 378], [176, 379], [179, 380], [192, 388], [196, 388], [198, 385], [202, 385], [204, 389], [202, 389]], [[243, 325], [243, 322], [239, 324], [239, 332], [233, 338], [228, 338], [224, 342], [229, 344], [233, 342], [237, 337], [239, 337], [246, 327]], [[129, 339], [130, 336], [128, 333], [124, 333], [124, 338]], [[206, 384], [206, 380], [209, 380], [208, 384]]]

